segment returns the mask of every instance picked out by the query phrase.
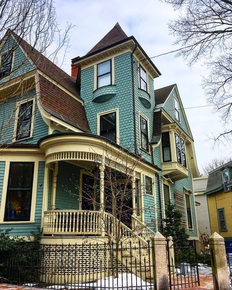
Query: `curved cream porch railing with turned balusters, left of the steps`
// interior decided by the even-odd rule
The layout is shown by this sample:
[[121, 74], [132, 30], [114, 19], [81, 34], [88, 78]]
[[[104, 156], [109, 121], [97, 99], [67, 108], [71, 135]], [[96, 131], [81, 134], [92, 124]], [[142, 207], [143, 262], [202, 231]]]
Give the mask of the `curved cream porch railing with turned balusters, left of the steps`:
[[100, 212], [84, 210], [53, 210], [44, 215], [44, 235], [100, 235]]

